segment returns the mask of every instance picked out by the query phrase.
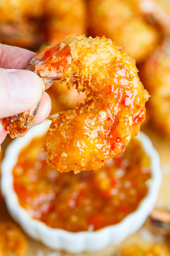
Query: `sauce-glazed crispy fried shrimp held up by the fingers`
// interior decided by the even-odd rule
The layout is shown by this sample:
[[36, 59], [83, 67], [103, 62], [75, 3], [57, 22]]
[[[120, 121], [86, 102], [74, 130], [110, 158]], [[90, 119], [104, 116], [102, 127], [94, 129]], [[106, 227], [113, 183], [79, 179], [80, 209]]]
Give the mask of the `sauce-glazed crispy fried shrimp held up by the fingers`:
[[137, 135], [149, 94], [134, 60], [110, 39], [68, 36], [34, 56], [27, 69], [45, 84], [76, 84], [87, 96], [84, 105], [52, 118], [44, 149], [55, 169], [75, 173], [98, 169]]

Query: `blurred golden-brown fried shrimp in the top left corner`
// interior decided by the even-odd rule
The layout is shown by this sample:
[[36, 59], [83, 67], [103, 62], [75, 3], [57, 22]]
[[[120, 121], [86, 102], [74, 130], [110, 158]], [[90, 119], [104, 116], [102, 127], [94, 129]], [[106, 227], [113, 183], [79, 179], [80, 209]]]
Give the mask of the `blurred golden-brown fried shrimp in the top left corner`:
[[45, 42], [40, 20], [42, 0], [0, 1], [0, 42], [37, 49]]

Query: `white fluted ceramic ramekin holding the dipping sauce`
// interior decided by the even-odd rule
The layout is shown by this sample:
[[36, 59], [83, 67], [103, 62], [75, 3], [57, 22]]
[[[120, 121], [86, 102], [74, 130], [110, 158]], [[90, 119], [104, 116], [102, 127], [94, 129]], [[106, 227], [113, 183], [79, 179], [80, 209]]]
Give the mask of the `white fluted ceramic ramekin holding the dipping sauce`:
[[137, 210], [130, 213], [121, 222], [98, 231], [69, 232], [58, 228], [49, 228], [39, 220], [33, 219], [18, 203], [18, 197], [13, 189], [12, 170], [17, 163], [20, 150], [35, 136], [43, 135], [50, 121], [34, 126], [24, 138], [15, 139], [8, 147], [2, 162], [1, 189], [7, 208], [12, 217], [22, 226], [26, 233], [41, 241], [52, 249], [63, 249], [68, 252], [98, 251], [109, 244], [117, 244], [130, 234], [136, 232], [150, 214], [157, 200], [161, 184], [159, 155], [153, 148], [150, 139], [142, 132], [137, 138], [142, 142], [145, 152], [151, 158], [152, 182], [147, 196], [141, 201]]

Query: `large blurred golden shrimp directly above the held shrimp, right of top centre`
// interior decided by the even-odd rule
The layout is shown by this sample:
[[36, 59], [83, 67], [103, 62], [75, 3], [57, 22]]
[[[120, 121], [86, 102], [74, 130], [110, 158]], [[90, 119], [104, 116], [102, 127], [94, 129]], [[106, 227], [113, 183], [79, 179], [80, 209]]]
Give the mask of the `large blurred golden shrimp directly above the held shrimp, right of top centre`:
[[90, 0], [89, 29], [92, 36], [111, 38], [143, 62], [157, 46], [159, 32], [134, 5], [131, 0]]

